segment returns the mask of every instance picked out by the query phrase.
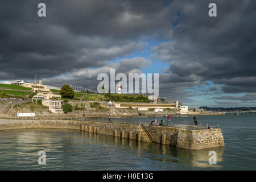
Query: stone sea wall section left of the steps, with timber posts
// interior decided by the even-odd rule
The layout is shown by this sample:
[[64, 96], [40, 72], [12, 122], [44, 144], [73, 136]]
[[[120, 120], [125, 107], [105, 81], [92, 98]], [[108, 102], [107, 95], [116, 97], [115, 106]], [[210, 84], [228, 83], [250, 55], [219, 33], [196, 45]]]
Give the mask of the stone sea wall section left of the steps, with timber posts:
[[138, 134], [140, 133], [138, 130], [138, 125], [47, 119], [0, 119], [0, 130], [31, 128], [82, 130], [93, 133], [112, 135], [114, 137], [141, 140], [146, 142], [146, 140], [143, 137], [138, 136]]

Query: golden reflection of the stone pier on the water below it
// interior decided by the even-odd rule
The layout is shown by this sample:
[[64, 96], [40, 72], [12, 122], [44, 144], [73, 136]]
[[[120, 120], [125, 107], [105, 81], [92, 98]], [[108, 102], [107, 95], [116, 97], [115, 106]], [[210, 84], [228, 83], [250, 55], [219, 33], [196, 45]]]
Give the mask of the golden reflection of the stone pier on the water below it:
[[[86, 134], [86, 132], [85, 132]], [[89, 133], [90, 135], [90, 133]], [[222, 154], [224, 152], [224, 147], [208, 148], [204, 150], [182, 150], [174, 146], [162, 145], [158, 143], [146, 143], [141, 141], [129, 140], [127, 138], [112, 137], [107, 135], [97, 134], [97, 140], [111, 144], [113, 141], [115, 145], [129, 146], [131, 150], [137, 150], [137, 154], [144, 158], [149, 158], [151, 160], [158, 160], [162, 162], [175, 162], [179, 164], [185, 164], [196, 168], [222, 168]], [[112, 140], [111, 140], [112, 139]], [[127, 148], [122, 148], [127, 150]], [[215, 151], [216, 165], [209, 164], [210, 151]], [[150, 155], [147, 155], [150, 154]], [[152, 155], [154, 154], [154, 155]], [[162, 155], [165, 155], [164, 157]]]

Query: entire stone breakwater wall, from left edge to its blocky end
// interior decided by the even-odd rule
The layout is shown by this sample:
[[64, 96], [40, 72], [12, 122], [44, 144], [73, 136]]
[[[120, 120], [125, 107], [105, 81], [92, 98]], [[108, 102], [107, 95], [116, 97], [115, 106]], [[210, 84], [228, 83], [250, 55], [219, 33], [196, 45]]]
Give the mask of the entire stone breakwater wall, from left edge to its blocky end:
[[143, 142], [156, 142], [187, 150], [224, 146], [221, 129], [185, 130], [162, 126], [142, 126], [121, 123], [80, 122], [61, 120], [1, 119], [0, 130], [52, 128], [74, 129], [95, 134], [112, 135]]

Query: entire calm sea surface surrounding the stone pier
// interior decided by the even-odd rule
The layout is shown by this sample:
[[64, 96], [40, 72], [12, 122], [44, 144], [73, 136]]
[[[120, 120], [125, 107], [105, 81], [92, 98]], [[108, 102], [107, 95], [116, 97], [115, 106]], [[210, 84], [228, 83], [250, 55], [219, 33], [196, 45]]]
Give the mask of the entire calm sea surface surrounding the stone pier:
[[[77, 130], [5, 130], [0, 131], [0, 170], [256, 170], [256, 114], [197, 118], [220, 122], [225, 147], [188, 151]], [[126, 121], [132, 119], [150, 122], [152, 117]], [[192, 123], [193, 119], [174, 117], [173, 121]], [[42, 150], [46, 165], [38, 164]], [[216, 151], [216, 165], [208, 163], [209, 151]]]

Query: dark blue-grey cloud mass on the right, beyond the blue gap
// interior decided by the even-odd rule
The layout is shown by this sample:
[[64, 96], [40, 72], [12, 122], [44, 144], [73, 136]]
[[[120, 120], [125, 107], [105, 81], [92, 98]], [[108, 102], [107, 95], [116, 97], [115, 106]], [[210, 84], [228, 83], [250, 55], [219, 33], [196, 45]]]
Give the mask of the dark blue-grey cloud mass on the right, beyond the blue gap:
[[255, 93], [256, 2], [214, 1], [216, 18], [208, 16], [210, 2], [172, 2], [178, 24], [170, 41], [152, 48], [152, 57], [169, 63], [172, 74], [213, 81], [225, 93]]

